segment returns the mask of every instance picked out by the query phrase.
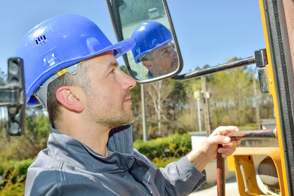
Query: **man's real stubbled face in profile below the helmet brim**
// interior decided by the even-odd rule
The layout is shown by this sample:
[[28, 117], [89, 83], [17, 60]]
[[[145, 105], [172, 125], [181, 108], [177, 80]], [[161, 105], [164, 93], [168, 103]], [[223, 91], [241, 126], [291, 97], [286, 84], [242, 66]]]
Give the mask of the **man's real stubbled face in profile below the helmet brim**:
[[91, 90], [86, 93], [86, 108], [91, 120], [108, 128], [129, 123], [133, 117], [130, 89], [136, 81], [119, 69], [112, 52], [87, 63]]

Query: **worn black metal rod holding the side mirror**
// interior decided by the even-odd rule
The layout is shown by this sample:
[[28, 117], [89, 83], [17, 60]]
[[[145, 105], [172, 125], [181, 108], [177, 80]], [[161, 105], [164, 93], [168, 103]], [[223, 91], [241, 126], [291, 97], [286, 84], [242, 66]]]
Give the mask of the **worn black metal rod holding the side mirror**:
[[217, 65], [214, 67], [210, 67], [210, 68], [206, 68], [206, 69], [202, 69], [202, 70], [197, 70], [197, 71], [190, 72], [190, 73], [180, 74], [180, 75], [172, 77], [172, 79], [175, 81], [184, 81], [184, 80], [188, 80], [191, 78], [197, 78], [200, 76], [209, 75], [212, 73], [218, 73], [218, 72], [222, 72], [222, 71], [229, 70], [229, 69], [252, 65], [254, 63], [255, 63], [255, 56], [250, 56], [250, 57], [243, 58], [243, 59], [240, 59], [237, 61]]

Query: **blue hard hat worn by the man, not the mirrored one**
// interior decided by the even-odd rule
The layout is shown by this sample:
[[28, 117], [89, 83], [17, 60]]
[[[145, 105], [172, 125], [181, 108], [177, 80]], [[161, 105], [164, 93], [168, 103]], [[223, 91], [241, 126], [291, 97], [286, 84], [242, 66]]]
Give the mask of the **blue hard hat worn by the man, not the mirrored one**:
[[[40, 105], [32, 95], [36, 97], [40, 89], [44, 91], [45, 81], [61, 76], [62, 71], [76, 72], [65, 68], [111, 50], [117, 58], [134, 45], [132, 39], [112, 45], [95, 23], [79, 15], [60, 15], [35, 26], [22, 39], [15, 54], [24, 59], [26, 106]], [[46, 95], [41, 102], [47, 103], [47, 86], [43, 94]]]

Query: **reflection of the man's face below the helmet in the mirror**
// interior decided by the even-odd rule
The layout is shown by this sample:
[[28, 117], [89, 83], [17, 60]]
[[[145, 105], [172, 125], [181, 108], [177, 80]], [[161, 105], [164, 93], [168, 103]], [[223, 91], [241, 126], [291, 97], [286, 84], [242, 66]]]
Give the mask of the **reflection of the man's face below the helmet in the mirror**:
[[150, 51], [142, 63], [154, 77], [175, 71], [178, 58], [173, 41]]

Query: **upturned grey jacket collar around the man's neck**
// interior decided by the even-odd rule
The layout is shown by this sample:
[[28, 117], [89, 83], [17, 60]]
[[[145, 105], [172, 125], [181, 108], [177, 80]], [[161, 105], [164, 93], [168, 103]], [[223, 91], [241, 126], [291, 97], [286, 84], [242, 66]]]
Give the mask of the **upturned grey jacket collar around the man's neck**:
[[47, 147], [48, 155], [63, 162], [63, 167], [76, 166], [89, 172], [126, 170], [134, 159], [132, 125], [111, 129], [107, 147], [113, 153], [106, 157], [54, 128], [51, 128]]

